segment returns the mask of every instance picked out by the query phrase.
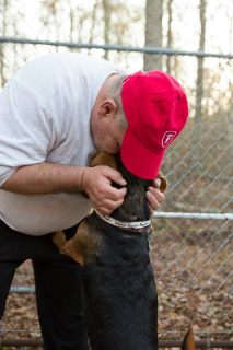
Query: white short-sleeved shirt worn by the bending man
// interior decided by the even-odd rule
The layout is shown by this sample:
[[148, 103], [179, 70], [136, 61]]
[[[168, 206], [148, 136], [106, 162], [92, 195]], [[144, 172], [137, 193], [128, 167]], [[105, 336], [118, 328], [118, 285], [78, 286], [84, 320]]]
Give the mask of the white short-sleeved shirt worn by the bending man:
[[[123, 71], [80, 54], [28, 61], [0, 94], [0, 186], [23, 165], [54, 162], [86, 166], [96, 152], [91, 109], [105, 79]], [[77, 224], [91, 209], [81, 194], [19, 195], [0, 189], [0, 220], [43, 235]]]

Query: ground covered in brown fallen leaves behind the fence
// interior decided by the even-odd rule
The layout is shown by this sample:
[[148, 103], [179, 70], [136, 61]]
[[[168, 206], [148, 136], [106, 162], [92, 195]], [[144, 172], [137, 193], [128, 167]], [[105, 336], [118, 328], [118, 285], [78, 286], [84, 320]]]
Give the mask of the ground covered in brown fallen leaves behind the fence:
[[[161, 222], [161, 228], [154, 230], [151, 238], [160, 302], [160, 339], [179, 340], [191, 324], [197, 339], [232, 340], [232, 226], [224, 225], [214, 236], [210, 223], [201, 230], [201, 235], [194, 223], [191, 231], [187, 221], [179, 222], [175, 229], [174, 224], [171, 228]], [[16, 271], [13, 285], [33, 284], [27, 260]], [[34, 294], [10, 294], [1, 332], [3, 339], [39, 337]]]

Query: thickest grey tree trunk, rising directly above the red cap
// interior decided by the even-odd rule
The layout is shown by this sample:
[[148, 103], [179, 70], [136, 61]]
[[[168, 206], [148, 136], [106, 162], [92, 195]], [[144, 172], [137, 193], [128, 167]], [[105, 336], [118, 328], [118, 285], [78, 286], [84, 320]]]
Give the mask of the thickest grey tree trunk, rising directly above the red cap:
[[[147, 0], [145, 46], [162, 47], [163, 0]], [[144, 70], [162, 69], [162, 56], [144, 54]]]

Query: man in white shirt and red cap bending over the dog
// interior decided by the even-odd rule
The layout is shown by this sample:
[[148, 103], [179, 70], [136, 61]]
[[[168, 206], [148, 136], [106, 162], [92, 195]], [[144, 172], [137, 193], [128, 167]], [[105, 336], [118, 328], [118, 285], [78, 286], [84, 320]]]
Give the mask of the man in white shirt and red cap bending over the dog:
[[[123, 73], [105, 60], [53, 54], [27, 62], [0, 94], [0, 316], [15, 269], [32, 259], [45, 349], [86, 348], [81, 267], [58, 253], [51, 232], [69, 237], [91, 207], [109, 214], [126, 195], [121, 175], [88, 167], [91, 156], [120, 151], [129, 171], [154, 178], [147, 197], [156, 210], [164, 150], [187, 119], [185, 94], [173, 78]], [[162, 117], [162, 150], [154, 110]], [[164, 128], [164, 116], [175, 120], [174, 130], [171, 122]]]

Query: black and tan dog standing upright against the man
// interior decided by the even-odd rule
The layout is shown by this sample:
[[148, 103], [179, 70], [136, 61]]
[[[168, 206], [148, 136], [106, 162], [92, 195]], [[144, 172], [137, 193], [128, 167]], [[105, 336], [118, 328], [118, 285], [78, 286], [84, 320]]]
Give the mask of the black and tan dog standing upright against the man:
[[[158, 296], [149, 257], [149, 180], [124, 167], [120, 158], [100, 153], [92, 162], [117, 168], [127, 195], [110, 218], [93, 211], [73, 238], [62, 232], [54, 242], [83, 265], [88, 332], [92, 350], [158, 349]], [[161, 176], [161, 190], [166, 180]]]

